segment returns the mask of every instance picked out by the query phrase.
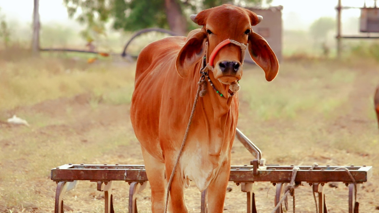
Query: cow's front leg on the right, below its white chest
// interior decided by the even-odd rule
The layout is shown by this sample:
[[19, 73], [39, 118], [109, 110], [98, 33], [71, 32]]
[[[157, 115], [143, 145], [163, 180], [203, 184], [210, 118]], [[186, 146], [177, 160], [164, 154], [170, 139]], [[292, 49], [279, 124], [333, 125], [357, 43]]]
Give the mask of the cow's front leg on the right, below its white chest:
[[[229, 158], [230, 159], [230, 158]], [[226, 188], [229, 182], [230, 160], [222, 162], [218, 174], [208, 186], [208, 212], [221, 213], [224, 211]]]

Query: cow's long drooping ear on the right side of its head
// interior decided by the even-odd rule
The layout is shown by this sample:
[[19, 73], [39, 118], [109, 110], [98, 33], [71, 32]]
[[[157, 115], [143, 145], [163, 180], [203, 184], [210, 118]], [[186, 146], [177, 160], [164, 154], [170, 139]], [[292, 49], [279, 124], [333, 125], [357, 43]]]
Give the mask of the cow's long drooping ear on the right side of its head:
[[267, 41], [252, 31], [249, 33], [248, 43], [250, 56], [265, 71], [266, 80], [274, 80], [278, 74], [279, 62]]

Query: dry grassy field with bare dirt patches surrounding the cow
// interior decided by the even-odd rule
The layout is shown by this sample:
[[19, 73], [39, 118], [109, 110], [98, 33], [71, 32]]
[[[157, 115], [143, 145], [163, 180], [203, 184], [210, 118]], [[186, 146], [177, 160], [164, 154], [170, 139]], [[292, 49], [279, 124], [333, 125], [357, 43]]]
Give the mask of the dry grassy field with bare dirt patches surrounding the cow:
[[[0, 60], [0, 212], [53, 212], [56, 183], [50, 170], [66, 163], [143, 164], [129, 119], [135, 63], [86, 64], [71, 58]], [[281, 165], [369, 165], [370, 181], [359, 186], [360, 212], [379, 212], [379, 132], [374, 88], [379, 64], [288, 58], [266, 82], [263, 71], [244, 65], [238, 128]], [[16, 114], [30, 127], [10, 125]], [[235, 140], [232, 164], [252, 156]], [[225, 212], [245, 212], [245, 195], [230, 183]], [[127, 211], [128, 184], [113, 184], [116, 212]], [[258, 212], [271, 212], [275, 187], [255, 183]], [[348, 211], [348, 188], [326, 187], [330, 212]], [[96, 183], [81, 182], [65, 194], [65, 211], [103, 212]], [[200, 193], [186, 190], [190, 212], [200, 211]], [[138, 197], [149, 211], [149, 187]], [[290, 205], [291, 206], [291, 205]], [[311, 187], [296, 189], [296, 210], [315, 212]]]

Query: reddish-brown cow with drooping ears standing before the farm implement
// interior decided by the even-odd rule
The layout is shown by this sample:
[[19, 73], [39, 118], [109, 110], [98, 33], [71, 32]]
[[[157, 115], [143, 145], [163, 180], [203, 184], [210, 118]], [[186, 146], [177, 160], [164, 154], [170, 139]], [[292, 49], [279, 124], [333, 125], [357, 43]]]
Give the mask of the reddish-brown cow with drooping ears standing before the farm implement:
[[[207, 189], [209, 212], [224, 209], [238, 119], [238, 92], [230, 88], [242, 77], [241, 49], [248, 44], [250, 56], [264, 70], [267, 81], [279, 70], [273, 50], [252, 30], [262, 16], [221, 5], [191, 15], [191, 19], [202, 28], [187, 37], [170, 36], [150, 43], [136, 64], [130, 119], [141, 144], [153, 213], [164, 212], [168, 177], [187, 130], [199, 79], [204, 75], [207, 92], [198, 98], [169, 188], [171, 213], [188, 212], [183, 191], [190, 181], [199, 191]], [[200, 73], [204, 64], [209, 68], [206, 74]]]

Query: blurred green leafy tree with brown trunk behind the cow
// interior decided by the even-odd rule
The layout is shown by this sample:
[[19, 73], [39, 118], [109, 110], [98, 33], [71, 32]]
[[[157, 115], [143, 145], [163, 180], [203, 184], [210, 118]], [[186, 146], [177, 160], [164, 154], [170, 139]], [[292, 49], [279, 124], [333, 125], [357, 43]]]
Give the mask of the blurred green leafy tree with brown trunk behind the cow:
[[190, 26], [186, 13], [197, 13], [225, 3], [256, 6], [272, 0], [64, 0], [70, 17], [87, 29], [103, 31], [111, 20], [114, 29], [136, 31], [148, 27], [169, 28], [185, 35]]

